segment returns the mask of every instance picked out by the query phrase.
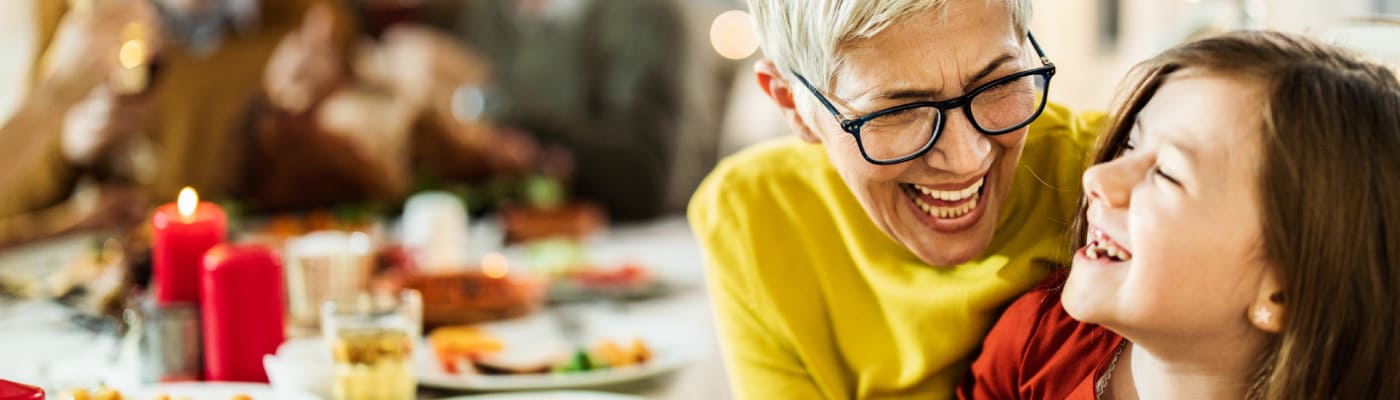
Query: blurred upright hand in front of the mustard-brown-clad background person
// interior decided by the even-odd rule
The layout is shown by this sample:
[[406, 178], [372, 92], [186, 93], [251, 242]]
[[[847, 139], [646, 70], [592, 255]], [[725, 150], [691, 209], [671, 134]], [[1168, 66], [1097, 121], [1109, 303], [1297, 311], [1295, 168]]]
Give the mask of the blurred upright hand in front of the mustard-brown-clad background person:
[[316, 3], [307, 10], [301, 28], [277, 43], [263, 74], [263, 90], [273, 106], [302, 113], [346, 78], [344, 63], [335, 39], [335, 15]]

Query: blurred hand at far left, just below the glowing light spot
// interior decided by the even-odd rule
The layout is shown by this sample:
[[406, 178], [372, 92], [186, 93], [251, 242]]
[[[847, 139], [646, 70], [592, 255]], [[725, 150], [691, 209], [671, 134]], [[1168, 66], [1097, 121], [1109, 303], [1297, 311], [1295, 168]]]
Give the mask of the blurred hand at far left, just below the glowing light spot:
[[92, 165], [140, 134], [150, 109], [148, 95], [118, 95], [105, 84], [92, 88], [63, 116], [63, 155], [76, 165]]

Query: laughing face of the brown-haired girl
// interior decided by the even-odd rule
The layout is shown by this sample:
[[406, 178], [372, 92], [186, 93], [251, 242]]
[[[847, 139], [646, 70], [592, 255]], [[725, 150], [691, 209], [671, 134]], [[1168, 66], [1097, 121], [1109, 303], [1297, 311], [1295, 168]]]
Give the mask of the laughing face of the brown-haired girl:
[[1260, 85], [1221, 74], [1166, 78], [1130, 147], [1084, 175], [1089, 245], [1064, 288], [1071, 316], [1134, 341], [1252, 333], [1246, 312], [1267, 271], [1261, 99]]

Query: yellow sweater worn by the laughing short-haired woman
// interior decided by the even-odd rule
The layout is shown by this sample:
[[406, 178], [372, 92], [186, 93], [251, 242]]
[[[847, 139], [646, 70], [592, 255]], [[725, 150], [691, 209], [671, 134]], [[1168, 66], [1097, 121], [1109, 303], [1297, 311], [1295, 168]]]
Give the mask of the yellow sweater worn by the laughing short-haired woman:
[[1049, 105], [986, 253], [948, 269], [886, 236], [818, 144], [776, 140], [722, 161], [689, 218], [735, 396], [951, 399], [1001, 308], [1068, 263], [1100, 119]]

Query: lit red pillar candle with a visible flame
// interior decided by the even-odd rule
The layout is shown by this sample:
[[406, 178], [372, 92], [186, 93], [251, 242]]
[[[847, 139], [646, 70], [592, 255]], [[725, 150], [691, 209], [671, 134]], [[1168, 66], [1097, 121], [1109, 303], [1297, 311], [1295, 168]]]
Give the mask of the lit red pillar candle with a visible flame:
[[151, 269], [157, 303], [199, 302], [199, 262], [224, 242], [228, 217], [213, 203], [185, 187], [175, 204], [151, 215]]

